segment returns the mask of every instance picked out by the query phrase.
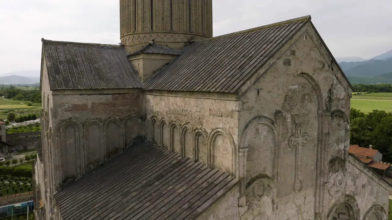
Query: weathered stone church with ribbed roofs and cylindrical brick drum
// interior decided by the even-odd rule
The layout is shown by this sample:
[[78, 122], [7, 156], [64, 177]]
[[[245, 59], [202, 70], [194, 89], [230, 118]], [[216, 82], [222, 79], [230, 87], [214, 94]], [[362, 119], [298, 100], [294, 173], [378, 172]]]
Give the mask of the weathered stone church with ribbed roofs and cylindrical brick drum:
[[212, 0], [120, 0], [120, 45], [42, 39], [41, 220], [386, 220], [310, 16], [212, 37]]

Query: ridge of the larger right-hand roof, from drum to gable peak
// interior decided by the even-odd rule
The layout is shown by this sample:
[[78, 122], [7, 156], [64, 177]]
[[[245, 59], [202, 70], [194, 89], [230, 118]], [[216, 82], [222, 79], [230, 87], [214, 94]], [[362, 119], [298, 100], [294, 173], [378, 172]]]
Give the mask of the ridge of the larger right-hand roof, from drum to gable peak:
[[267, 25], [263, 25], [263, 26], [259, 26], [259, 27], [253, 27], [250, 29], [246, 29], [246, 30], [242, 30], [242, 31], [237, 31], [237, 32], [232, 32], [229, 34], [223, 34], [220, 36], [215, 36], [212, 38], [207, 38], [205, 40], [201, 40], [201, 41], [196, 41], [196, 43], [203, 43], [206, 41], [211, 41], [211, 40], [217, 40], [217, 39], [221, 39], [221, 38], [227, 38], [227, 37], [231, 37], [231, 36], [236, 36], [236, 35], [240, 35], [240, 34], [246, 34], [249, 32], [254, 32], [254, 31], [260, 31], [263, 29], [268, 29], [271, 27], [278, 27], [278, 26], [282, 26], [282, 25], [286, 25], [286, 24], [290, 24], [290, 23], [296, 23], [296, 22], [302, 22], [302, 21], [306, 21], [306, 20], [311, 20], [312, 17], [310, 15], [307, 16], [302, 16], [299, 18], [293, 18], [293, 19], [289, 19], [289, 20], [285, 20], [285, 21], [281, 21], [281, 22], [276, 22], [276, 23], [271, 23], [271, 24], [267, 24]]

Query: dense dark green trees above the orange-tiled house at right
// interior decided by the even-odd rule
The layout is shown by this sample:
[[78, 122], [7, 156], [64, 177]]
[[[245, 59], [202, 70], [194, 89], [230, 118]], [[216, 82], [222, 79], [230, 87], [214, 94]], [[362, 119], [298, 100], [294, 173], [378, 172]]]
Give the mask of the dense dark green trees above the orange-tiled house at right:
[[350, 144], [379, 150], [384, 162], [392, 162], [392, 113], [373, 110], [365, 114], [350, 110]]

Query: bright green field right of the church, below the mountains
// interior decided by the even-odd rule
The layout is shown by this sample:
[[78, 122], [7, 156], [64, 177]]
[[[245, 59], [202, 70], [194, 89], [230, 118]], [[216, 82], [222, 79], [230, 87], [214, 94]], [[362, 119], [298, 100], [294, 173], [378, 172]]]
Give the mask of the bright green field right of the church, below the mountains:
[[353, 95], [351, 108], [356, 108], [368, 113], [372, 110], [384, 110], [392, 112], [392, 93], [370, 93]]

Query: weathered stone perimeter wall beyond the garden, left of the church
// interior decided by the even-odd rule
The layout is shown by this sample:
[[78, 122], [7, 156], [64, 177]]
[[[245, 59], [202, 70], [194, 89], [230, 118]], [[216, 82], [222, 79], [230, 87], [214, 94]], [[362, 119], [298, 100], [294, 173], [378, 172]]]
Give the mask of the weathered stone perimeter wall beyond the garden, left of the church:
[[34, 142], [40, 135], [41, 132], [13, 133], [7, 135], [7, 143], [13, 145], [13, 150], [34, 149]]

